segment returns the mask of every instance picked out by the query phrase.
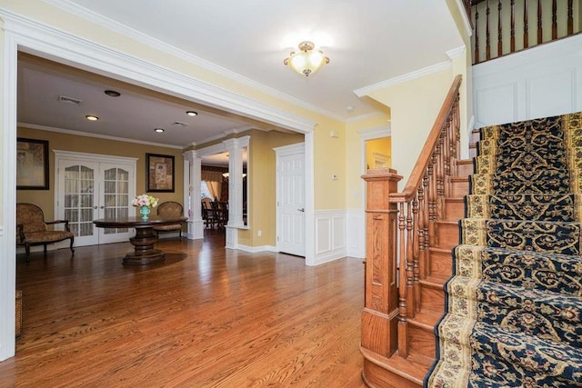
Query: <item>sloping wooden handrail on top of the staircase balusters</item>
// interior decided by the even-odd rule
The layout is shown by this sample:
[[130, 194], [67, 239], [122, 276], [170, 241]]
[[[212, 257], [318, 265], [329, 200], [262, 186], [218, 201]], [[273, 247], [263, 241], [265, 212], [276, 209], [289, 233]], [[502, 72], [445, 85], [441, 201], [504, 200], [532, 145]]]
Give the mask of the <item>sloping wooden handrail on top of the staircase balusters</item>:
[[430, 130], [430, 134], [428, 134], [428, 137], [426, 138], [426, 143], [422, 148], [420, 155], [418, 156], [418, 160], [412, 169], [412, 173], [410, 173], [410, 177], [406, 182], [404, 190], [401, 193], [390, 194], [390, 202], [409, 202], [413, 195], [416, 194], [420, 184], [422, 184], [423, 176], [426, 174], [426, 167], [428, 166], [430, 158], [437, 146], [438, 138], [441, 135], [442, 129], [447, 124], [448, 116], [453, 110], [454, 103], [457, 100], [458, 89], [462, 80], [462, 75], [457, 75], [453, 80], [453, 85], [451, 85], [450, 89], [448, 90], [447, 98], [445, 99], [445, 102], [438, 112], [437, 120], [435, 121], [435, 124], [433, 124], [433, 127]]

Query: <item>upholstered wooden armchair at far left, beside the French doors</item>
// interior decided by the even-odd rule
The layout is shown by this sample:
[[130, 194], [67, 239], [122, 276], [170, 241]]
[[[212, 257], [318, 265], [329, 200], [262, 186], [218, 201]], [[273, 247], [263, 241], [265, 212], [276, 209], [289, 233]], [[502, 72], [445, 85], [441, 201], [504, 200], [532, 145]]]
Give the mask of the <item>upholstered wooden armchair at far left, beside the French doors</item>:
[[[65, 224], [65, 230], [55, 230], [48, 225]], [[71, 253], [75, 254], [73, 243], [75, 235], [71, 233], [68, 220], [45, 221], [43, 210], [35, 204], [16, 204], [16, 244], [25, 245], [26, 262], [33, 245], [58, 243], [71, 240]]]

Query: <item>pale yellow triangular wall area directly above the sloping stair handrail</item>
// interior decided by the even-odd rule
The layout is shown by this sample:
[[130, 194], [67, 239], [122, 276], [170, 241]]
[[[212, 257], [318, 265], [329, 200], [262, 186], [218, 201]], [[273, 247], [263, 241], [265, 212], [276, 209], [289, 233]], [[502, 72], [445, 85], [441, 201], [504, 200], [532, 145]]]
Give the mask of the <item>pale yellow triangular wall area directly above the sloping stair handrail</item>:
[[391, 109], [392, 165], [404, 176], [399, 189], [416, 164], [453, 78], [449, 68], [369, 95]]

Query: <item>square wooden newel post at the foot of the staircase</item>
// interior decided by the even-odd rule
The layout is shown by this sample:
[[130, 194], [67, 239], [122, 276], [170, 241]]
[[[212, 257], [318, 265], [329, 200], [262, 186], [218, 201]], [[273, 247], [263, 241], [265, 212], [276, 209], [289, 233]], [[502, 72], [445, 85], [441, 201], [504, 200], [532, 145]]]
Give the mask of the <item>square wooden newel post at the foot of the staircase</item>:
[[[368, 170], [366, 181], [366, 295], [362, 311], [362, 348], [382, 357], [397, 349], [396, 268], [397, 192], [402, 176], [392, 169]], [[367, 352], [366, 352], [367, 353]]]

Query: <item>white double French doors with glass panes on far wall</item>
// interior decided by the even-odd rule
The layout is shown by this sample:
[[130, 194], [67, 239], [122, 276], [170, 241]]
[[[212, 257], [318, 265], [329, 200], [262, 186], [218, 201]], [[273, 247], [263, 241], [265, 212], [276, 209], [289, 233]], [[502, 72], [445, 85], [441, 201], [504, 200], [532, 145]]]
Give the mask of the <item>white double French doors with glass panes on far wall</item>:
[[119, 162], [125, 163], [112, 164], [111, 157], [104, 161], [105, 155], [71, 154], [55, 156], [56, 214], [69, 220], [75, 246], [127, 241], [133, 229], [96, 228], [93, 220], [135, 213], [130, 209], [135, 196], [135, 160], [127, 163], [131, 161], [123, 158]]

